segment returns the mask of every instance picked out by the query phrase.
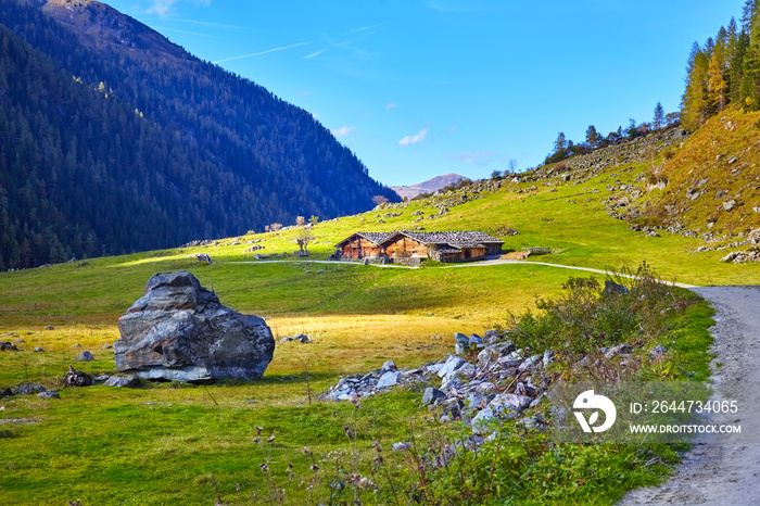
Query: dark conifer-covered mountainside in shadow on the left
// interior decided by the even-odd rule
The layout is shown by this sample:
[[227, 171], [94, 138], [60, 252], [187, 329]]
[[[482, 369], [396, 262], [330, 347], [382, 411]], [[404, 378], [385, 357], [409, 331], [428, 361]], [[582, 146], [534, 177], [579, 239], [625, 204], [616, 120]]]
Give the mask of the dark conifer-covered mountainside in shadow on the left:
[[0, 2], [0, 270], [400, 198], [308, 112], [88, 0]]

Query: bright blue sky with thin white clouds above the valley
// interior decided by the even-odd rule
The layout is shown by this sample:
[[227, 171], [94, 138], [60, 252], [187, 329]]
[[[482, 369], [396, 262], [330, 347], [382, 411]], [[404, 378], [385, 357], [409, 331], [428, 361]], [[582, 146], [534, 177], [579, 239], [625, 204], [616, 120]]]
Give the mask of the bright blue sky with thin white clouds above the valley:
[[692, 43], [743, 0], [110, 0], [314, 114], [387, 185], [537, 165], [676, 111]]

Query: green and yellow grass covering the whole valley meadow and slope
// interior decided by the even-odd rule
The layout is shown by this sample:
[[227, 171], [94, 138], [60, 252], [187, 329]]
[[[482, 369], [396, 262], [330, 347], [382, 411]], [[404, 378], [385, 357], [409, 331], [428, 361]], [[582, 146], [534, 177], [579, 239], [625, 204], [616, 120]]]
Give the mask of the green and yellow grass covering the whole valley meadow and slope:
[[[685, 140], [684, 147], [697, 146], [698, 135]], [[704, 142], [711, 146], [709, 140]], [[269, 504], [268, 488], [290, 483], [299, 491], [290, 504], [308, 504], [314, 498], [308, 486], [326, 490], [329, 484], [309, 485], [313, 461], [301, 452], [302, 446], [318, 455], [320, 466], [333, 463], [338, 468], [338, 460], [351, 455], [369, 455], [371, 460], [373, 441], [388, 447], [420, 433], [429, 435], [430, 427], [419, 392], [369, 399], [360, 410], [345, 404], [309, 404], [309, 392], [325, 390], [341, 376], [378, 368], [389, 358], [401, 367], [439, 359], [453, 352], [454, 332], [482, 332], [504, 325], [510, 313], [534, 308], [536, 295], [557, 294], [571, 276], [582, 275], [531, 263], [409, 269], [312, 262], [325, 258], [334, 243], [354, 231], [479, 229], [502, 237], [507, 250], [550, 246], [550, 255], [536, 258], [550, 264], [604, 269], [635, 267], [645, 261], [669, 280], [759, 282], [757, 264], [722, 264], [723, 250], [697, 253], [706, 244], [699, 237], [701, 230], [697, 237], [686, 237], [656, 229], [660, 237], [648, 237], [631, 229], [636, 222], [610, 215], [654, 208], [663, 194], [675, 191], [672, 164], [684, 157], [697, 163], [696, 157], [688, 157], [697, 155], [687, 156], [685, 150], [672, 146], [667, 149], [675, 151], [667, 154], [667, 162], [666, 153], [655, 152], [645, 163], [616, 155], [612, 159], [619, 162], [608, 166], [542, 167], [518, 179], [481, 181], [456, 193], [319, 223], [311, 232], [316, 240], [309, 245], [309, 261], [264, 262], [246, 253], [252, 245], [264, 246], [258, 251], [264, 254], [296, 250], [293, 241], [300, 229], [293, 227], [220, 239], [205, 246], [0, 274], [0, 333], [16, 334], [0, 339], [24, 341], [18, 343], [23, 352], [0, 354], [0, 387], [28, 380], [58, 388], [83, 350], [91, 351], [96, 360], [76, 363], [78, 368], [92, 375], [115, 372], [113, 352], [102, 346], [117, 339], [117, 318], [157, 271], [191, 270], [224, 304], [266, 317], [276, 338], [303, 332], [314, 340], [307, 345], [278, 344], [264, 379], [252, 383], [63, 389], [60, 402], [35, 396], [2, 399], [0, 418], [26, 421], [0, 426], [0, 466], [4, 470], [0, 497], [8, 504], [61, 504], [76, 498], [81, 504], [214, 504], [218, 488], [230, 504]], [[705, 156], [712, 153], [705, 151]], [[672, 174], [671, 182], [664, 191], [648, 190], [651, 167], [663, 162], [662, 174]], [[747, 216], [745, 223], [749, 223]], [[651, 219], [647, 214], [637, 218], [639, 223]], [[684, 225], [698, 228], [691, 222]], [[518, 235], [509, 235], [510, 229]], [[709, 244], [731, 241], [735, 238]], [[194, 255], [201, 252], [208, 253], [214, 264], [199, 265]], [[707, 342], [709, 309], [694, 307], [680, 313], [671, 326], [689, 344], [684, 344], [688, 349], [684, 353], [702, 350]], [[699, 339], [693, 341], [695, 334]], [[443, 339], [431, 339], [433, 336]], [[35, 346], [45, 352], [33, 352]], [[707, 355], [704, 350], [697, 355], [684, 358], [684, 364], [696, 367], [699, 362], [704, 368]], [[359, 429], [358, 441], [346, 439], [344, 425]], [[264, 438], [275, 434], [275, 441], [257, 441], [256, 426], [264, 428]], [[631, 461], [660, 463], [658, 458], [664, 458], [672, 463], [676, 458], [672, 448], [660, 448], [657, 454], [629, 450], [575, 448], [553, 456], [556, 461], [541, 460], [542, 472], [549, 476], [561, 469], [563, 478], [557, 479], [566, 480], [557, 489], [553, 489], [559, 486], [556, 481], [544, 485], [609, 504], [622, 491], [653, 483], [667, 472], [662, 464], [632, 468]], [[395, 458], [400, 466], [409, 464], [402, 455], [388, 458]], [[532, 457], [529, 452], [520, 458]], [[604, 476], [596, 468], [603, 460], [609, 464]], [[276, 479], [258, 467], [264, 461], [277, 468], [273, 471]], [[583, 464], [588, 461], [595, 463], [594, 469]], [[301, 470], [293, 481], [288, 478], [288, 463]], [[316, 480], [317, 473], [314, 477]], [[615, 477], [613, 486], [608, 485], [610, 477]], [[580, 486], [581, 482], [586, 485]], [[560, 501], [546, 497], [550, 496], [535, 501]]]

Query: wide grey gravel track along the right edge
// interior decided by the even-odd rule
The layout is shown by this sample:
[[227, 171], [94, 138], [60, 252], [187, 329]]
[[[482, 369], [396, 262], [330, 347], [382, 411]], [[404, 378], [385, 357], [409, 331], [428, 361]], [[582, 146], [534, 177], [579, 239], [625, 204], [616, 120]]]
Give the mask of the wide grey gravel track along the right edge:
[[739, 413], [720, 422], [740, 423], [742, 437], [697, 441], [667, 483], [635, 490], [619, 505], [760, 504], [760, 287], [705, 287], [695, 292], [715, 308], [713, 399], [737, 400]]

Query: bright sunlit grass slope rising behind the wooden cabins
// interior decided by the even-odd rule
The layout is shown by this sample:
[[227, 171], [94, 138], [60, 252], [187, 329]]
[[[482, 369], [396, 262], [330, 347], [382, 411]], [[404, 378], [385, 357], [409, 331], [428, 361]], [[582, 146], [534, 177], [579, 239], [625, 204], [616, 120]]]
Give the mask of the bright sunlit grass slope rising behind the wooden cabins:
[[[445, 216], [421, 222], [415, 222], [413, 213], [421, 210], [425, 216], [429, 216], [438, 212], [430, 201], [413, 201], [403, 208], [370, 211], [317, 224], [311, 231], [316, 243], [309, 250], [313, 258], [324, 260], [337, 242], [362, 230], [390, 231], [422, 226], [426, 230], [496, 230], [494, 233], [498, 233], [499, 228], [510, 227], [517, 229], [519, 235], [503, 238], [506, 250], [549, 246], [555, 252], [539, 258], [549, 263], [604, 269], [609, 266], [635, 266], [646, 261], [668, 280], [677, 279], [691, 284], [760, 282], [760, 266], [757, 263], [720, 263], [720, 258], [731, 250], [697, 253], [696, 250], [705, 245], [699, 238], [672, 235], [664, 230], [660, 230], [659, 238], [646, 237], [643, 232], [630, 230], [631, 223], [608, 216], [605, 210], [607, 199], [623, 194], [608, 191], [608, 187], [625, 184], [643, 188], [644, 184], [636, 182], [635, 178], [646, 172], [648, 167], [645, 165], [608, 167], [580, 185], [557, 178], [548, 181], [552, 186], [546, 186], [546, 180], [521, 184], [504, 181], [504, 187], [495, 192], [484, 192], [480, 199], [449, 207]], [[536, 190], [518, 193], [530, 187], [536, 187]], [[643, 200], [658, 201], [661, 193], [660, 190], [651, 190]], [[383, 217], [388, 213], [401, 213], [401, 216]], [[377, 223], [378, 219], [385, 223]], [[702, 229], [699, 233], [706, 231]], [[185, 261], [194, 261], [194, 255], [201, 252], [208, 253], [216, 262], [256, 262], [254, 253], [245, 253], [250, 248], [249, 241], [262, 240], [256, 243], [264, 246], [262, 254], [292, 252], [297, 249], [293, 241], [299, 233], [297, 229], [289, 229], [242, 236], [238, 245], [231, 245], [233, 239], [226, 239], [220, 240], [218, 245], [130, 255], [118, 265], [157, 267], [170, 261], [182, 265]], [[733, 240], [710, 245], [718, 246]], [[295, 261], [290, 257], [287, 262]], [[319, 268], [314, 266], [313, 270]]]

